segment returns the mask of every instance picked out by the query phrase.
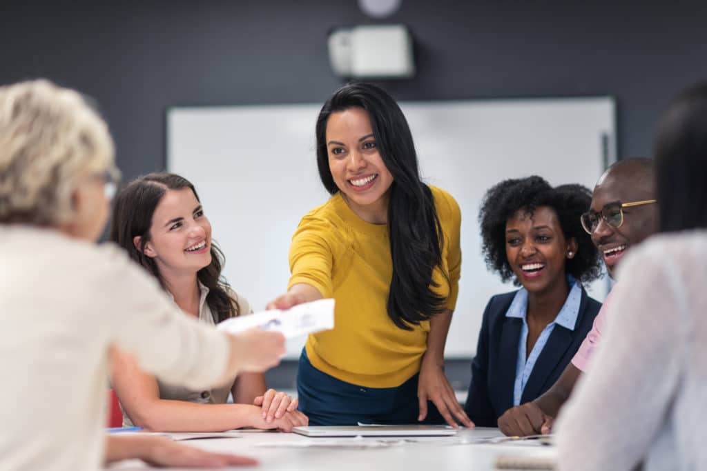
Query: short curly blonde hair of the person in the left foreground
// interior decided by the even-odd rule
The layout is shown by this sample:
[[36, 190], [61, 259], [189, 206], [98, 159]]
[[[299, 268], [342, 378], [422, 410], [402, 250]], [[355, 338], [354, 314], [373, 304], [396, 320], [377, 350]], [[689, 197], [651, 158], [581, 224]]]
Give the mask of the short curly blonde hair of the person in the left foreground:
[[46, 80], [0, 87], [0, 223], [71, 220], [79, 179], [114, 165], [105, 121], [76, 91]]

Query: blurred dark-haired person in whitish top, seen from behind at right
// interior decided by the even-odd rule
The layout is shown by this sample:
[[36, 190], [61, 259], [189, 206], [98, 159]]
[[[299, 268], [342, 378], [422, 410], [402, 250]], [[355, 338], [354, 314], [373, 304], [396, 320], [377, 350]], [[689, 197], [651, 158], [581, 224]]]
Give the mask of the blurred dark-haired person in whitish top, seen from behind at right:
[[556, 426], [559, 470], [707, 469], [707, 82], [655, 136], [659, 234], [621, 261], [607, 328]]

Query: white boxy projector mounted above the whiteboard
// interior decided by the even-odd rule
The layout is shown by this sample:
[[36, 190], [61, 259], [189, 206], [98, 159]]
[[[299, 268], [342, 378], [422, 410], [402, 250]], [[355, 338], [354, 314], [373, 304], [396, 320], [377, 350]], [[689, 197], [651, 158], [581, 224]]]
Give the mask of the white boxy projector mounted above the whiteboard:
[[329, 62], [343, 78], [411, 78], [412, 37], [404, 25], [339, 28], [329, 34]]

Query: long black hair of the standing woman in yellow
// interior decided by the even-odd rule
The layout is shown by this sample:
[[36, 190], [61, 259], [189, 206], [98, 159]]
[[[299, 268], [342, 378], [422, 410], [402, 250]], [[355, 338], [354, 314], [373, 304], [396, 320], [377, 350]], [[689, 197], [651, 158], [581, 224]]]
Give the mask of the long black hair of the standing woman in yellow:
[[[396, 326], [427, 321], [445, 310], [445, 298], [434, 292], [433, 270], [442, 270], [443, 233], [434, 198], [420, 179], [412, 134], [402, 111], [385, 91], [368, 83], [339, 88], [317, 117], [317, 166], [322, 184], [332, 195], [339, 191], [329, 169], [327, 121], [332, 113], [362, 108], [368, 112], [380, 157], [392, 174], [388, 231], [393, 274], [387, 313]], [[449, 280], [448, 273], [442, 270]]]

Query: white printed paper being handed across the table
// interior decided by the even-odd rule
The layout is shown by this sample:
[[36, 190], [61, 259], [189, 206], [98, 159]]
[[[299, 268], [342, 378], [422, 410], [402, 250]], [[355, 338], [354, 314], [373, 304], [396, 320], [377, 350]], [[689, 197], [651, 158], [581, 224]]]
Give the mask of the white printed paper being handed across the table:
[[334, 328], [334, 299], [298, 304], [284, 311], [273, 309], [248, 316], [232, 317], [218, 323], [216, 328], [230, 333], [249, 328], [276, 330], [283, 333], [285, 338], [329, 330]]

